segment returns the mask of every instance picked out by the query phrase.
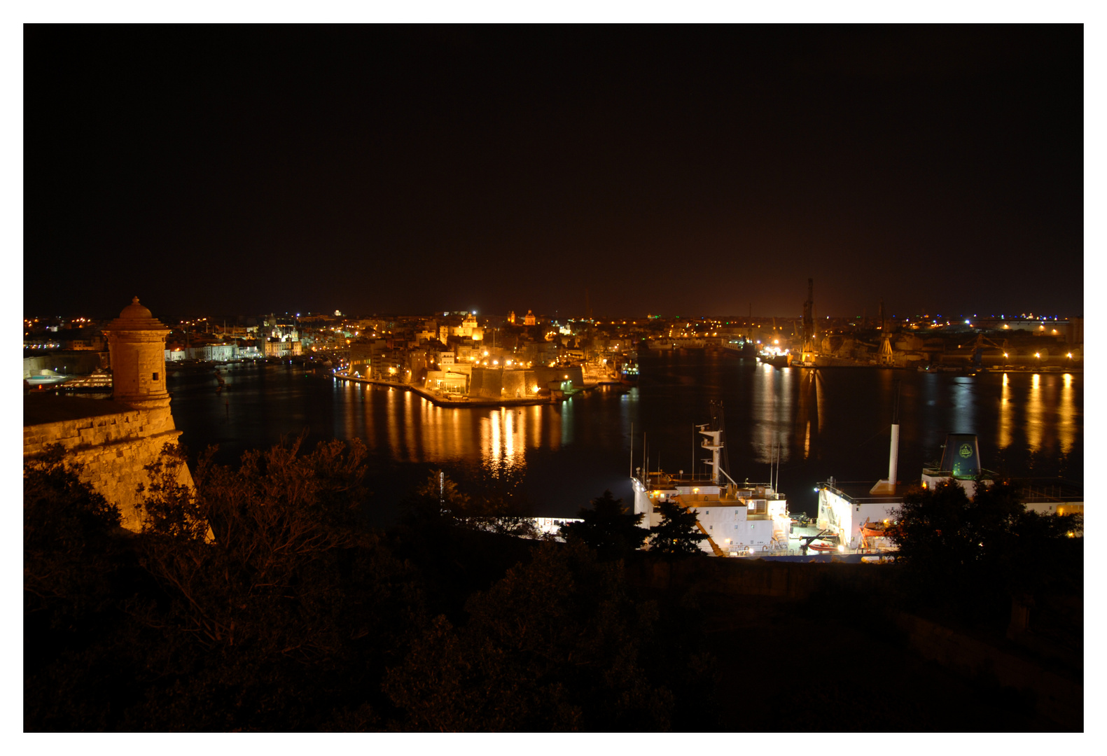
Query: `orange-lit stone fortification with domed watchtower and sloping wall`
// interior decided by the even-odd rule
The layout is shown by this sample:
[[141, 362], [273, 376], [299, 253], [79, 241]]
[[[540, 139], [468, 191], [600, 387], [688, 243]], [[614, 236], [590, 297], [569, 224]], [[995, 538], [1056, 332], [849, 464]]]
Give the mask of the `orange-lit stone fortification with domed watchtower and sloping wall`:
[[[167, 329], [135, 297], [104, 329], [111, 353], [111, 400], [55, 396], [32, 392], [23, 402], [23, 458], [61, 444], [70, 458], [84, 465], [82, 480], [117, 504], [123, 527], [139, 528], [138, 485], [147, 481], [145, 465], [176, 429], [165, 387]], [[192, 485], [187, 467], [182, 483]]]

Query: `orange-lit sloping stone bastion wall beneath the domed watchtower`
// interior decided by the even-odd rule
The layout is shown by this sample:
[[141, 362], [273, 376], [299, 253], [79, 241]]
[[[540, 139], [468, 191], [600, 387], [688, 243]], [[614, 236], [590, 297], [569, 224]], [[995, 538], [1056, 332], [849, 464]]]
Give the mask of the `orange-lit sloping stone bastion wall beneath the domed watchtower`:
[[[32, 396], [28, 397], [28, 403], [33, 400], [55, 405], [81, 402]], [[174, 426], [168, 408], [134, 410], [106, 400], [99, 400], [99, 403], [102, 414], [24, 424], [23, 458], [42, 454], [48, 444], [61, 444], [70, 453], [72, 462], [84, 465], [81, 479], [91, 484], [108, 501], [118, 505], [123, 527], [138, 530], [137, 490], [139, 484], [147, 483], [147, 473], [143, 467], [157, 459], [166, 443], [177, 443], [180, 431]], [[24, 405], [24, 420], [39, 414], [37, 408]], [[187, 467], [182, 468], [180, 483], [193, 485]]]

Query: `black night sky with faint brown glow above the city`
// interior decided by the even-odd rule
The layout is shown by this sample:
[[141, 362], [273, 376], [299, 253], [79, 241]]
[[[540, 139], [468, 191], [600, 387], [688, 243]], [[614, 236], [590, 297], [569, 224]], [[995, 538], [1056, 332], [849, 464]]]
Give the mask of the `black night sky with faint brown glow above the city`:
[[1080, 314], [1083, 28], [24, 28], [24, 312]]

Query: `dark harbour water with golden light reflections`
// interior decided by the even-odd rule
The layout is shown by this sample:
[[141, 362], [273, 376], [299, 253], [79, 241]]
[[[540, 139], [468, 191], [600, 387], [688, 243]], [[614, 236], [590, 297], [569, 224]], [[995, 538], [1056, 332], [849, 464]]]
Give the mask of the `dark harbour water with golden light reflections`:
[[724, 408], [731, 476], [773, 476], [794, 514], [815, 515], [815, 484], [830, 476], [887, 477], [897, 393], [903, 483], [940, 457], [946, 433], [975, 433], [989, 469], [1083, 484], [1079, 373], [777, 369], [710, 350], [643, 352], [639, 363], [633, 389], [526, 407], [436, 407], [407, 391], [289, 364], [221, 367], [218, 393], [214, 372], [172, 374], [168, 387], [194, 459], [209, 445], [234, 465], [248, 449], [301, 434], [306, 448], [360, 438], [370, 452], [370, 519], [379, 525], [439, 467], [463, 490], [509, 498], [535, 516], [575, 516], [604, 489], [629, 503], [643, 448], [650, 469], [703, 469], [694, 426], [711, 422], [713, 401]]

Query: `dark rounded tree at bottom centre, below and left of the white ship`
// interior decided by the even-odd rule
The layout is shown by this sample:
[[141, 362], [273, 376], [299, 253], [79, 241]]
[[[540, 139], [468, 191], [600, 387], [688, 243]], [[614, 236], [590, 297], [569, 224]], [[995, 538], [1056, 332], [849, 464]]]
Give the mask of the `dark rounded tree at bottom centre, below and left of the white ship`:
[[384, 683], [397, 726], [435, 732], [654, 731], [672, 694], [640, 656], [658, 609], [628, 593], [622, 565], [573, 539], [536, 547], [466, 605], [439, 617]]

